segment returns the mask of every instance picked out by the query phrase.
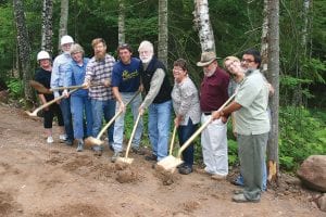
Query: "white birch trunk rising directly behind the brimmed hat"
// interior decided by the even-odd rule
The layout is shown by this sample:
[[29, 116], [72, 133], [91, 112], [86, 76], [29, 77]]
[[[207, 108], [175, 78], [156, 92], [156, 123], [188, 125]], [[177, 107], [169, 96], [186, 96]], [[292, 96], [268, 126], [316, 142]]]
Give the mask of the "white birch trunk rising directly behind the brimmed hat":
[[195, 0], [193, 23], [199, 33], [201, 51], [214, 51], [214, 33], [210, 21], [208, 0]]

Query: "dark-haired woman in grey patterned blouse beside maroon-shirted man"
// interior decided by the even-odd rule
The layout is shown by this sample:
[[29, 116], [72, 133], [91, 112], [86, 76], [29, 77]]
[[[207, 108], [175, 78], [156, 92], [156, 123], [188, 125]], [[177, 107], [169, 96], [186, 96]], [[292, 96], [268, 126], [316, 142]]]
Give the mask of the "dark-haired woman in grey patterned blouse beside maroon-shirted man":
[[[178, 127], [179, 143], [183, 145], [197, 129], [200, 122], [200, 105], [198, 90], [188, 76], [187, 63], [179, 59], [174, 62], [173, 76], [175, 79], [172, 90], [172, 102], [175, 111], [174, 124]], [[193, 143], [184, 152], [184, 164], [179, 167], [179, 173], [188, 175], [192, 173], [193, 165]]]

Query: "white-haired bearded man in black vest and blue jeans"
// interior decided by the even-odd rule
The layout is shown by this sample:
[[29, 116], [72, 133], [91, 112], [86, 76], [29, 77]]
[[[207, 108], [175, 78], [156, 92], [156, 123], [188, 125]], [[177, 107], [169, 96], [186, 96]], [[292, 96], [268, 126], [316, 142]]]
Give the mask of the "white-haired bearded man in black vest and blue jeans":
[[140, 114], [149, 108], [148, 131], [152, 144], [152, 155], [147, 161], [161, 161], [167, 156], [171, 124], [172, 86], [164, 64], [154, 56], [150, 41], [142, 41], [138, 48], [141, 60], [141, 80], [147, 95], [139, 107]]

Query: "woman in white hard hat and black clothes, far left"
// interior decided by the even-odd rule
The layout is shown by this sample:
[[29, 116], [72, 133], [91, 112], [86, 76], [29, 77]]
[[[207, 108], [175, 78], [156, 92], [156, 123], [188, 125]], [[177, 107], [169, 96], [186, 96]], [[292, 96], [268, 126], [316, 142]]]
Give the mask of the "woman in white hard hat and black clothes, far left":
[[[50, 60], [51, 58], [47, 51], [40, 51], [37, 54], [37, 61], [39, 63], [40, 68], [38, 68], [35, 74], [35, 80], [49, 89], [50, 89], [51, 72], [52, 72], [52, 65]], [[37, 94], [41, 104], [45, 104], [54, 99], [53, 94], [43, 94], [40, 92], [37, 92]], [[62, 113], [59, 104], [53, 103], [50, 106], [43, 108], [43, 127], [46, 129], [47, 142], [49, 144], [53, 143], [52, 122], [54, 115], [57, 115], [58, 117], [58, 124], [60, 127], [60, 132], [61, 132], [60, 140], [65, 140]]]

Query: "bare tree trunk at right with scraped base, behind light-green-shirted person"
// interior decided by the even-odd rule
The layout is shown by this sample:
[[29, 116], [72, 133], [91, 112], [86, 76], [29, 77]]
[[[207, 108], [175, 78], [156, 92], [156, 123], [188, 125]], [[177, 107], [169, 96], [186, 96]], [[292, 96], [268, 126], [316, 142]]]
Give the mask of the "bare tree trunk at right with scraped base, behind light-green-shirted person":
[[[279, 110], [279, 0], [268, 0], [268, 74], [267, 78], [275, 89], [274, 95], [269, 100], [272, 112], [272, 128], [269, 133], [269, 143], [274, 153], [269, 153], [273, 161], [269, 174], [272, 178], [277, 175], [276, 163], [278, 162], [278, 110]], [[271, 165], [269, 165], [271, 168]], [[271, 173], [271, 169], [269, 169]], [[268, 177], [268, 178], [269, 178]]]

